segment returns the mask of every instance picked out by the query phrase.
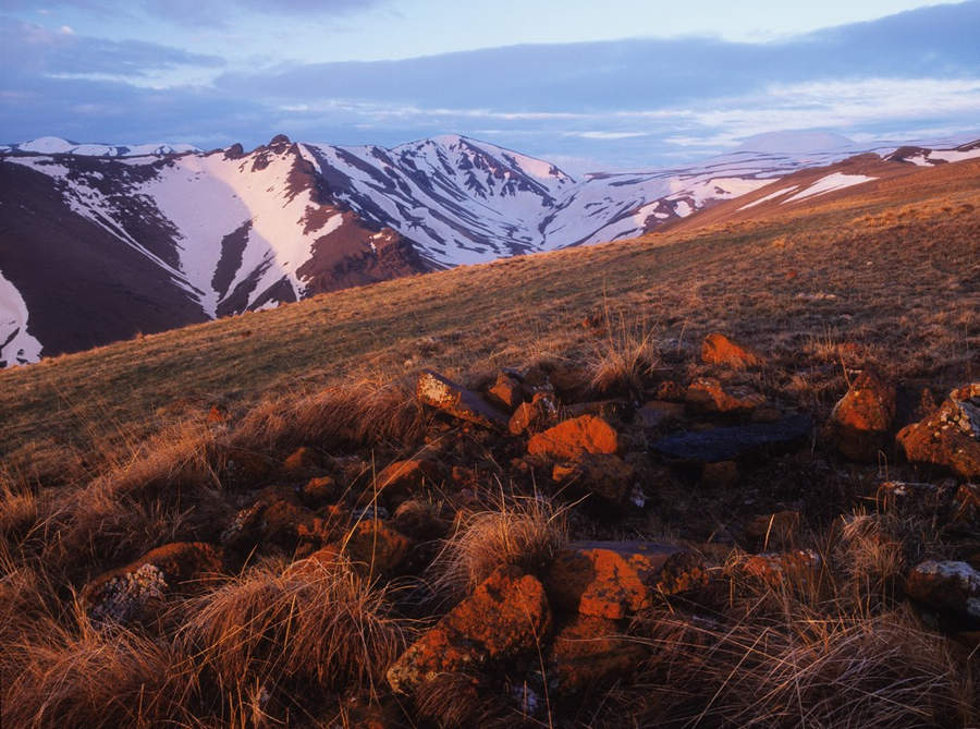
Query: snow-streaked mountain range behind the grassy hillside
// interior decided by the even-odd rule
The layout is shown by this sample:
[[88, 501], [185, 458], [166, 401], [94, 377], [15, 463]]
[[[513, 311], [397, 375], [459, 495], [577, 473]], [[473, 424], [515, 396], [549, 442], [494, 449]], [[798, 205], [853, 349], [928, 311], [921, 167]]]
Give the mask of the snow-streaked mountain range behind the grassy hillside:
[[[392, 149], [283, 135], [249, 153], [53, 137], [0, 147], [0, 366], [344, 287], [637, 236], [857, 151], [772, 145], [581, 180], [462, 136]], [[928, 163], [952, 154], [926, 151]]]

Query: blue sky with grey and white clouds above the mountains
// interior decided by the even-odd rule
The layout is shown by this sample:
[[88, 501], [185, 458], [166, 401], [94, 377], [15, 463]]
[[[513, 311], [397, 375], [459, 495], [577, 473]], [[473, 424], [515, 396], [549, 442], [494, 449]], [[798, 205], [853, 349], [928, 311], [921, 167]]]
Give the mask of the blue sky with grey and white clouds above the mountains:
[[0, 142], [457, 133], [580, 173], [966, 141], [978, 37], [980, 0], [0, 0]]

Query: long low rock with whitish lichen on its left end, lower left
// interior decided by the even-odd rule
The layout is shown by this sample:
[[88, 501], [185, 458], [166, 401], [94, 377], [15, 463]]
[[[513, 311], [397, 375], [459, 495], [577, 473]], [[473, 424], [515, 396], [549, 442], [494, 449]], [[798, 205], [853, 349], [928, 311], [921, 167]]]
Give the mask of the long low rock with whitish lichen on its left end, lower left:
[[168, 544], [89, 582], [82, 603], [97, 622], [151, 617], [166, 597], [196, 592], [203, 578], [221, 572], [221, 551], [209, 544]]

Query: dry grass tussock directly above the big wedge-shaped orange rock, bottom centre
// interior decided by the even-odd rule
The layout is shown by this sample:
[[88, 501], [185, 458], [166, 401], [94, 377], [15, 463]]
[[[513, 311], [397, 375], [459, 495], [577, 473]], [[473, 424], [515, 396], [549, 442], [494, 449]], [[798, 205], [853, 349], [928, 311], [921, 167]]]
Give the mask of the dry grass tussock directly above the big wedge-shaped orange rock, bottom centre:
[[427, 572], [430, 586], [460, 599], [498, 567], [538, 571], [568, 540], [566, 510], [538, 496], [503, 495], [493, 509], [464, 517]]

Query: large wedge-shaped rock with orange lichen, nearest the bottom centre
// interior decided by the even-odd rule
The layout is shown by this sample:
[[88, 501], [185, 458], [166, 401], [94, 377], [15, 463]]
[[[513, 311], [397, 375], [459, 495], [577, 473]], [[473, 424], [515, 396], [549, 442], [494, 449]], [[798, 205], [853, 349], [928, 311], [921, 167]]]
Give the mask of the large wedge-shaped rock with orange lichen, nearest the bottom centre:
[[541, 583], [515, 567], [498, 568], [388, 670], [399, 693], [413, 693], [442, 673], [531, 652], [551, 624]]

